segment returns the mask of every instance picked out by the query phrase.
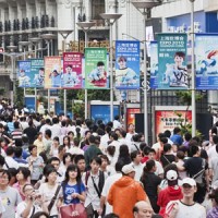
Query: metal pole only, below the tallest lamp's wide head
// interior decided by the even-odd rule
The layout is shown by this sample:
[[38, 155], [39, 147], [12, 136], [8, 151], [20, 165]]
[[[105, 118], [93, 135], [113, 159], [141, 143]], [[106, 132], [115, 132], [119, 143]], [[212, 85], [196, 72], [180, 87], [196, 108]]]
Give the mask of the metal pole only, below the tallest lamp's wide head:
[[147, 116], [147, 52], [146, 52], [146, 14], [144, 14], [144, 136], [148, 143], [148, 116]]

